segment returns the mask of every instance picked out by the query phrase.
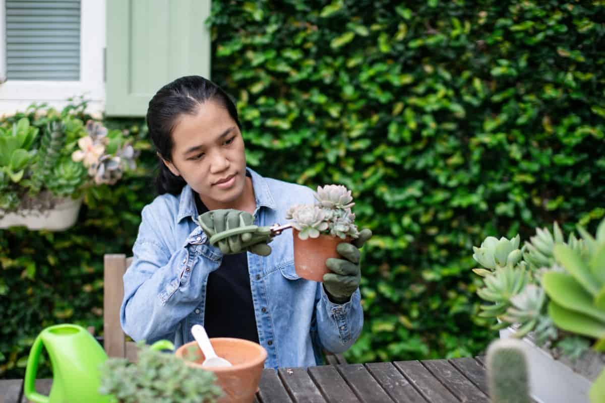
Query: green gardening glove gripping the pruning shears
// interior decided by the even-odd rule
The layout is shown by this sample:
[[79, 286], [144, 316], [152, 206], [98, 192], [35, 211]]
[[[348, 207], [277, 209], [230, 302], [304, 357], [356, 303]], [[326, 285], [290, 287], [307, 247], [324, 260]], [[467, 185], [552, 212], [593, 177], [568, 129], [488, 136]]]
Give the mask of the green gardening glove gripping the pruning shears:
[[247, 211], [226, 208], [211, 210], [198, 217], [200, 227], [210, 239], [210, 244], [220, 248], [224, 254], [235, 254], [249, 250], [260, 256], [268, 256], [271, 247], [269, 227], [253, 225], [254, 216]]

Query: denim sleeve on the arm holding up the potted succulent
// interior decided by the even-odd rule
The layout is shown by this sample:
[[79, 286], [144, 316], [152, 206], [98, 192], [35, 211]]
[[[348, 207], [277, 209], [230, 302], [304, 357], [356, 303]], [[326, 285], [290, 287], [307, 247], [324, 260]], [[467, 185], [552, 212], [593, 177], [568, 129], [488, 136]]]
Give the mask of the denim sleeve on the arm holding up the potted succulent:
[[319, 343], [332, 353], [344, 352], [353, 346], [364, 326], [359, 288], [342, 304], [330, 301], [322, 283], [318, 283], [317, 292], [319, 298], [315, 314]]

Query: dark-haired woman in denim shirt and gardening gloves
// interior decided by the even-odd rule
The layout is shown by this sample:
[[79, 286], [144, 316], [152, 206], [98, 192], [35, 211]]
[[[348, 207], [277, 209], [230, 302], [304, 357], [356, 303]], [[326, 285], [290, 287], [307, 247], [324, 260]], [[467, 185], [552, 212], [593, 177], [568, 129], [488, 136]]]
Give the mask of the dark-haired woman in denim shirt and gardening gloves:
[[193, 340], [191, 326], [203, 324], [209, 337], [260, 343], [266, 367], [313, 366], [322, 348], [350, 347], [363, 324], [358, 247], [371, 232], [361, 231], [357, 246], [339, 245], [342, 259], [329, 259], [334, 274], [324, 283], [296, 276], [291, 231], [275, 239], [255, 231], [214, 247], [209, 236], [226, 228], [285, 222], [290, 205], [313, 202], [312, 191], [246, 167], [237, 109], [203, 77], [160, 89], [147, 124], [160, 195], [143, 208], [124, 275], [126, 334], [180, 346]]

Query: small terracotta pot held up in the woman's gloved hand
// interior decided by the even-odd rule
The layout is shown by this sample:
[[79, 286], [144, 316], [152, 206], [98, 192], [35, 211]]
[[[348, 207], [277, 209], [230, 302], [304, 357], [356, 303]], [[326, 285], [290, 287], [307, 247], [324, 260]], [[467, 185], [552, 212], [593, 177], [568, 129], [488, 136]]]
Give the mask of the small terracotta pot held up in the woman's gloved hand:
[[342, 239], [337, 236], [321, 234], [317, 238], [302, 240], [298, 237], [298, 230], [292, 228], [294, 237], [294, 267], [296, 275], [301, 279], [323, 282], [324, 274], [331, 271], [325, 266], [325, 259], [329, 257], [341, 258], [336, 247], [341, 242], [350, 242], [350, 238]]

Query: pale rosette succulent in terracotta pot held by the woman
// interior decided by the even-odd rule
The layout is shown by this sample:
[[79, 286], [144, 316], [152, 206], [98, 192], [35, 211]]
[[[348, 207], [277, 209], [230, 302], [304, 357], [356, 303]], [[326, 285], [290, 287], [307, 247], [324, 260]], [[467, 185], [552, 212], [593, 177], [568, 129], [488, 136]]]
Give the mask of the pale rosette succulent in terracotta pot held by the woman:
[[315, 204], [296, 204], [286, 212], [293, 227], [294, 265], [299, 277], [322, 282], [325, 260], [339, 257], [336, 247], [359, 236], [351, 191], [342, 185], [319, 186]]

